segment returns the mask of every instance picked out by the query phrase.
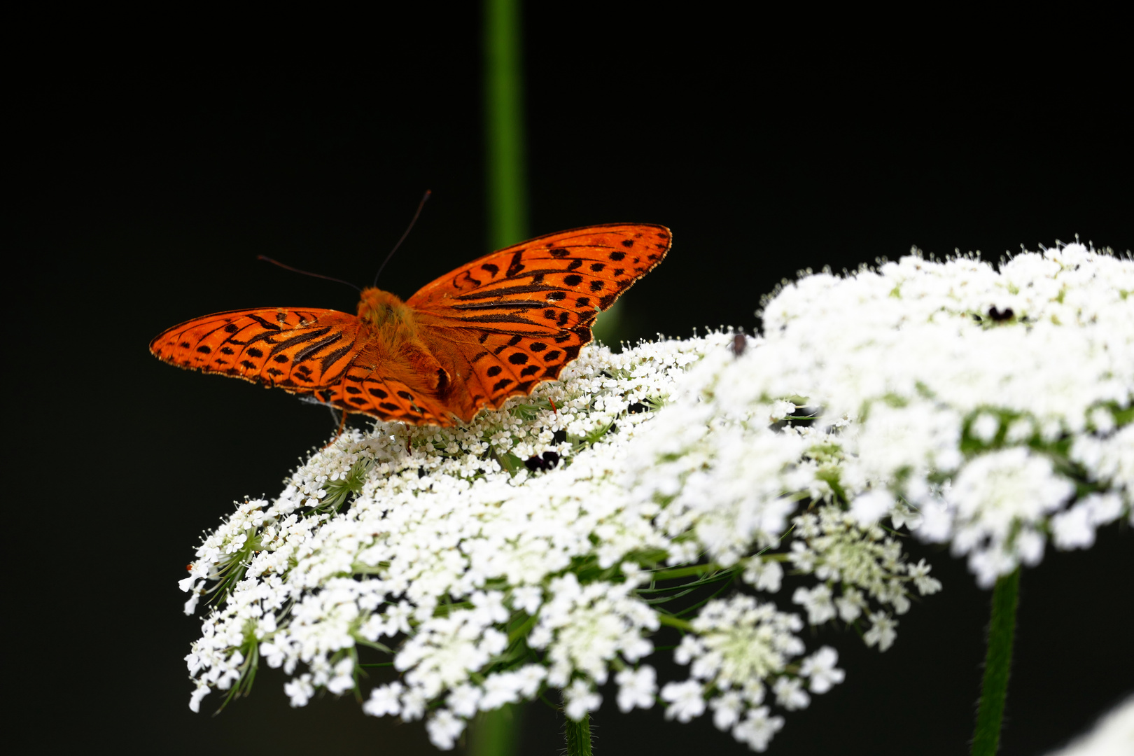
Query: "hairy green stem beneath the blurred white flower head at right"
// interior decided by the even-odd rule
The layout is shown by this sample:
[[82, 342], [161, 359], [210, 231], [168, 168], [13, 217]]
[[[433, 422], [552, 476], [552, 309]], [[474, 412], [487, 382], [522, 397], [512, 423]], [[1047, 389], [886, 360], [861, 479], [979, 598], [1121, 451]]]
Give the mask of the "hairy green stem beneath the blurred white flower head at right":
[[973, 732], [973, 756], [993, 756], [1000, 747], [1000, 724], [1004, 702], [1008, 695], [1008, 672], [1012, 668], [1012, 643], [1016, 634], [1016, 604], [1019, 593], [1019, 568], [996, 581], [992, 589], [992, 618], [989, 621], [989, 649], [984, 657], [984, 682], [981, 705]]

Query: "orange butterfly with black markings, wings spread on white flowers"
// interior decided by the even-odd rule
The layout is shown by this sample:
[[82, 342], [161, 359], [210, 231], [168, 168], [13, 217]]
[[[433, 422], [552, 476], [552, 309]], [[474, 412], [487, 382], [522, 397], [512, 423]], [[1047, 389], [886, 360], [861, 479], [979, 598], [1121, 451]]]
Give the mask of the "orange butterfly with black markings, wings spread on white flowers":
[[405, 301], [369, 288], [357, 315], [234, 309], [174, 326], [150, 351], [347, 413], [468, 423], [557, 379], [593, 338], [595, 316], [666, 257], [670, 238], [644, 223], [561, 231], [474, 260]]

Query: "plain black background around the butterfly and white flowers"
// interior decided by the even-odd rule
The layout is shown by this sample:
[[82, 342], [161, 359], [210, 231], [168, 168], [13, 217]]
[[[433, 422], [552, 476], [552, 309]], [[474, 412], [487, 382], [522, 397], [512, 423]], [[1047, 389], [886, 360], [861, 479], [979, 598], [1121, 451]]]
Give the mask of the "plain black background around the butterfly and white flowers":
[[[1129, 80], [1098, 45], [551, 8], [524, 29], [532, 233], [644, 221], [675, 235], [625, 297], [623, 338], [751, 330], [760, 296], [797, 270], [911, 245], [993, 260], [1075, 233], [1134, 245]], [[289, 708], [270, 670], [222, 714], [189, 713], [198, 620], [176, 580], [200, 533], [234, 499], [278, 493], [333, 428], [284, 392], [146, 351], [215, 311], [353, 312], [346, 287], [255, 256], [366, 283], [425, 188], [383, 288], [407, 296], [489, 250], [479, 11], [399, 12], [329, 49], [266, 29], [51, 39], [8, 71], [8, 687], [26, 705], [17, 732], [44, 750], [433, 753], [421, 723], [350, 699]], [[1111, 528], [1025, 572], [1004, 754], [1059, 745], [1134, 688], [1132, 545]], [[885, 654], [826, 634], [847, 681], [786, 715], [770, 753], [967, 750], [989, 594], [948, 554], [912, 550], [945, 592]], [[600, 754], [747, 753], [708, 717], [623, 715], [604, 695]], [[524, 754], [561, 748], [542, 705], [523, 732]]]

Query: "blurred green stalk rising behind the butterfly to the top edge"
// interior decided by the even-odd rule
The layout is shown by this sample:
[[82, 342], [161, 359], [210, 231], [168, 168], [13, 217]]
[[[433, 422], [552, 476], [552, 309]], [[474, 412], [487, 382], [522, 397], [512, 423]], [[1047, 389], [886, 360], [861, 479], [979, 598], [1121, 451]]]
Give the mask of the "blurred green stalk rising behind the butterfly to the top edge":
[[484, 138], [489, 246], [527, 238], [519, 0], [484, 0]]

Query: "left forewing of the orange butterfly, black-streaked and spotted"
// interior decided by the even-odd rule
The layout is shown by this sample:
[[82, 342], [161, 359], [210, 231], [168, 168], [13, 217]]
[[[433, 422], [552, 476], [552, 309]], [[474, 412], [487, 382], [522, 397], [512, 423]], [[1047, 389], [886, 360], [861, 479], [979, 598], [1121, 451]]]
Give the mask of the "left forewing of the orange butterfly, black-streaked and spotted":
[[335, 309], [263, 307], [205, 315], [150, 342], [159, 359], [306, 393], [339, 382], [362, 332]]

